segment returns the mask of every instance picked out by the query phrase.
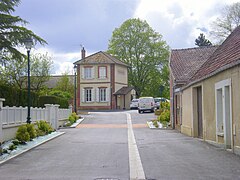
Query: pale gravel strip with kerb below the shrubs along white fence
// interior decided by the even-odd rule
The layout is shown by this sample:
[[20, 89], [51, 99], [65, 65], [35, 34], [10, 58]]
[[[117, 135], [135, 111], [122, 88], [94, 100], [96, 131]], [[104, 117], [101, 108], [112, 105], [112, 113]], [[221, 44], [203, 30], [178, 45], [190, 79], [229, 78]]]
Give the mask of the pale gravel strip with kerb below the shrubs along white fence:
[[10, 154], [3, 154], [0, 156], [0, 165], [5, 163], [6, 161], [15, 158], [19, 156], [20, 154], [23, 154], [37, 146], [40, 146], [41, 144], [44, 144], [52, 139], [55, 139], [61, 135], [63, 135], [65, 132], [52, 132], [51, 134], [48, 134], [46, 136], [39, 136], [32, 141], [27, 142], [25, 145], [18, 145], [16, 150], [13, 150], [10, 152]]

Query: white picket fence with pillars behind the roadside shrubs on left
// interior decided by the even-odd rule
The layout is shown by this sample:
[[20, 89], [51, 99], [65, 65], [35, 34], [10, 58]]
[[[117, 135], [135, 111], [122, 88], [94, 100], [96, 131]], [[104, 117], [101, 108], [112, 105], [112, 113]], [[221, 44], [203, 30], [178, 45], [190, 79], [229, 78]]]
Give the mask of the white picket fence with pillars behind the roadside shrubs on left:
[[[27, 107], [3, 107], [4, 99], [0, 98], [0, 142], [14, 137], [18, 126], [27, 121]], [[45, 108], [31, 108], [31, 122], [45, 120], [58, 129], [61, 122], [67, 120], [72, 113], [72, 106], [61, 109], [59, 105], [45, 104]]]

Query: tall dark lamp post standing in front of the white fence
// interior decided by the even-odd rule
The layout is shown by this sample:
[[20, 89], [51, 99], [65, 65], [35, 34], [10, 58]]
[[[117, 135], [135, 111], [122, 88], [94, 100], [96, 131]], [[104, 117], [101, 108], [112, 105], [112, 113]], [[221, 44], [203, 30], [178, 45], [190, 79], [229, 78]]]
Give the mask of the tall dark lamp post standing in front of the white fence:
[[27, 123], [31, 123], [30, 117], [30, 103], [31, 103], [31, 96], [30, 96], [30, 50], [33, 47], [33, 40], [32, 38], [27, 38], [24, 41], [25, 48], [27, 49], [27, 57], [28, 57], [28, 114], [27, 114]]

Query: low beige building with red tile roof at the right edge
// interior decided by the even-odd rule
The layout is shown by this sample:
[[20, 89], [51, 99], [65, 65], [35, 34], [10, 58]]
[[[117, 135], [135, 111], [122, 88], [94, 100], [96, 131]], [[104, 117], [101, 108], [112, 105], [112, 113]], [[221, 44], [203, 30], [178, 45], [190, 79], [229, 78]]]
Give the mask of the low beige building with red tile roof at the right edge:
[[[176, 67], [174, 61], [172, 67]], [[174, 68], [171, 71], [174, 74]], [[240, 154], [239, 92], [240, 27], [237, 27], [184, 85], [177, 91], [172, 88], [173, 97], [178, 95], [181, 101], [179, 130]], [[177, 116], [174, 102], [173, 121]]]

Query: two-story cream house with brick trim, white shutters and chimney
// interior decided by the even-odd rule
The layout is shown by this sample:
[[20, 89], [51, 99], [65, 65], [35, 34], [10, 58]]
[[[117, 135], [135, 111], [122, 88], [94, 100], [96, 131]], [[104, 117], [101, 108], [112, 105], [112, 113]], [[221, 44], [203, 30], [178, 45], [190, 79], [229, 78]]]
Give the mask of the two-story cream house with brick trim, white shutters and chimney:
[[77, 109], [129, 109], [135, 91], [128, 87], [128, 65], [97, 52], [74, 63], [77, 66]]

